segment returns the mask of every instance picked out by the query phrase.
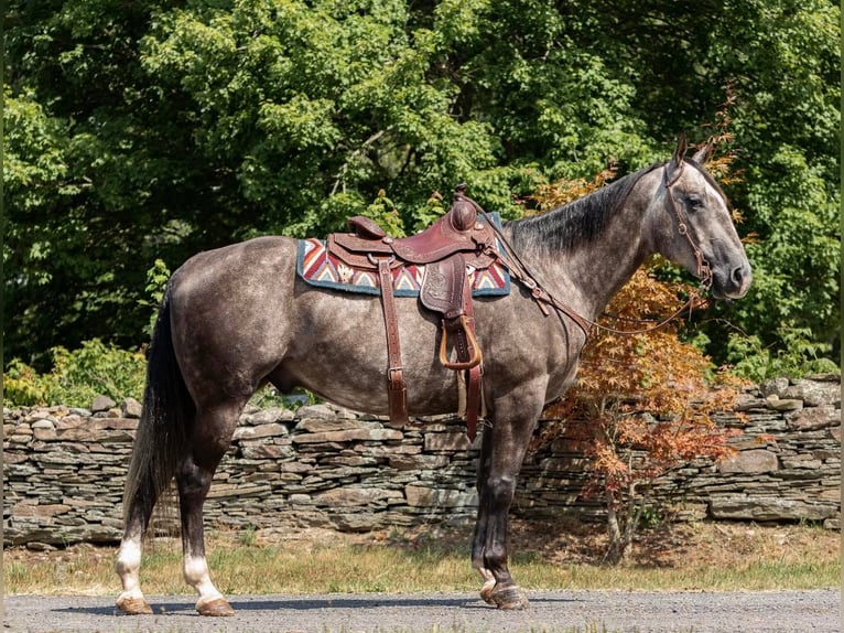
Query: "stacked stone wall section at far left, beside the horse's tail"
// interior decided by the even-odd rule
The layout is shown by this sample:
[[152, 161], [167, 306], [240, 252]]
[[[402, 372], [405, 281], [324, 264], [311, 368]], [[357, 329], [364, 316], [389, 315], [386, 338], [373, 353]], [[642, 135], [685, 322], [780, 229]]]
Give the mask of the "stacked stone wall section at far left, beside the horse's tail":
[[140, 405], [93, 411], [3, 408], [3, 543], [119, 539], [121, 498]]

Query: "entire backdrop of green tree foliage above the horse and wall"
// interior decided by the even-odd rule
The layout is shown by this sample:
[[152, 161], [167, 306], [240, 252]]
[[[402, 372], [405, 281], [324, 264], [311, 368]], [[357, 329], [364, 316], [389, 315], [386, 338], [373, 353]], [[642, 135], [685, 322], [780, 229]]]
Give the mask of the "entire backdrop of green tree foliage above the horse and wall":
[[8, 4], [4, 324], [36, 368], [138, 345], [159, 259], [355, 214], [410, 233], [459, 182], [515, 217], [538, 185], [702, 140], [727, 84], [755, 285], [707, 351], [727, 357], [724, 319], [775, 353], [787, 322], [840, 346], [837, 4]]

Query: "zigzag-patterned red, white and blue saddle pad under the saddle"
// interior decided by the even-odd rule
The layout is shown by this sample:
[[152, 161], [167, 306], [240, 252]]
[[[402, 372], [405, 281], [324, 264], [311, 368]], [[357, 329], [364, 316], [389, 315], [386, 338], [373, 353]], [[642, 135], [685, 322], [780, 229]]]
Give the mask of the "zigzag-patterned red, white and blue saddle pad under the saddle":
[[[364, 294], [381, 293], [377, 270], [359, 270], [346, 266], [325, 248], [325, 240], [299, 240], [296, 272], [311, 286]], [[499, 262], [481, 270], [467, 270], [473, 297], [501, 297], [510, 293], [510, 273]], [[409, 264], [392, 270], [396, 297], [419, 297], [424, 265]]]

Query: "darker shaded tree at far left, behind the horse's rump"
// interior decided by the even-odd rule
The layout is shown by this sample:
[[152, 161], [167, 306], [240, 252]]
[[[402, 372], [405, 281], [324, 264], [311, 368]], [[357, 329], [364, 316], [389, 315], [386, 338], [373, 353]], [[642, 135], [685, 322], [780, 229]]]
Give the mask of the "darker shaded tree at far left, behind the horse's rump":
[[180, 200], [202, 204], [213, 192], [198, 185], [190, 130], [140, 65], [138, 42], [158, 7], [9, 3], [7, 358], [44, 368], [47, 350], [98, 335], [137, 347], [155, 256], [227, 239], [216, 223], [194, 237], [181, 215]]

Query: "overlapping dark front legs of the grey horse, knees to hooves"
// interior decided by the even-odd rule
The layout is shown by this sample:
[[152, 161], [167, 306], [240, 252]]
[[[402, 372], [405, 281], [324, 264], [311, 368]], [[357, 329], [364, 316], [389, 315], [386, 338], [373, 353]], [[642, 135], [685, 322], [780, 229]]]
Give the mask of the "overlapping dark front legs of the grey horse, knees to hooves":
[[507, 408], [496, 404], [491, 428], [484, 429], [478, 463], [479, 504], [472, 564], [484, 578], [480, 597], [499, 609], [528, 605], [507, 566], [507, 527], [516, 479], [541, 406], [518, 405], [519, 414], [508, 415]]

